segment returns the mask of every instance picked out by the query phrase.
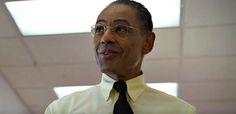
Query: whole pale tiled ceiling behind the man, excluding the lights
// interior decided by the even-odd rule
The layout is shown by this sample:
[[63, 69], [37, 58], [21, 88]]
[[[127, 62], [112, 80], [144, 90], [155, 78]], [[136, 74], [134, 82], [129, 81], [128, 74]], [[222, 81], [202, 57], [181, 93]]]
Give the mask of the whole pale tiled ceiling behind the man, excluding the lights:
[[[211, 113], [210, 108], [215, 105], [207, 104], [198, 95], [189, 92], [193, 92], [192, 88], [197, 91], [198, 87], [204, 85], [202, 83], [205, 82], [202, 80], [206, 78], [235, 80], [235, 69], [229, 70], [224, 69], [223, 66], [219, 67], [224, 64], [230, 66], [227, 68], [236, 68], [235, 1], [227, 1], [224, 2], [226, 5], [222, 5], [221, 0], [185, 0], [183, 3], [186, 4], [186, 7], [182, 9], [180, 27], [155, 29], [157, 40], [154, 49], [147, 55], [143, 64], [146, 82], [177, 81], [184, 83], [180, 86], [183, 89], [180, 89], [179, 95], [201, 107], [202, 112]], [[211, 13], [204, 13], [206, 10], [201, 10], [198, 6], [202, 6], [202, 9], [205, 8]], [[211, 15], [208, 16], [208, 14]], [[199, 34], [202, 39], [198, 37]], [[214, 37], [214, 40], [218, 42], [212, 44], [211, 37]], [[222, 37], [228, 40], [222, 40]], [[211, 57], [216, 58], [208, 60]], [[185, 61], [186, 58], [187, 61]], [[227, 58], [227, 61], [224, 58]], [[197, 60], [195, 61], [195, 59]], [[210, 67], [194, 67], [201, 66], [201, 64], [207, 66], [209, 64], [205, 63], [209, 63], [209, 61], [219, 64]], [[219, 72], [222, 77], [215, 75], [215, 73], [209, 73], [211, 69], [206, 70], [212, 67], [221, 69]], [[192, 75], [195, 70], [190, 68], [201, 72], [202, 76]], [[206, 73], [204, 74], [204, 72]], [[53, 87], [97, 84], [100, 82], [100, 74], [93, 56], [90, 33], [24, 37], [7, 11], [4, 0], [0, 0], [0, 76], [4, 77], [31, 114], [43, 114], [47, 105], [57, 99]], [[212, 83], [214, 85], [219, 82]], [[228, 82], [224, 82], [227, 86], [223, 87], [229, 87], [231, 90], [230, 95], [226, 95], [227, 99], [235, 99], [236, 92], [232, 90], [236, 87], [234, 83], [227, 85]], [[207, 89], [203, 90], [205, 93], [208, 92]], [[229, 92], [227, 89], [221, 90], [225, 93]], [[212, 88], [212, 91], [219, 97], [207, 97], [211, 101], [225, 98], [225, 95], [216, 92], [217, 88]], [[232, 110], [234, 113], [235, 109], [231, 106], [232, 104], [235, 102], [230, 105], [226, 104], [228, 108], [225, 109]], [[223, 104], [221, 105], [223, 106]], [[205, 108], [208, 106], [209, 109]]]

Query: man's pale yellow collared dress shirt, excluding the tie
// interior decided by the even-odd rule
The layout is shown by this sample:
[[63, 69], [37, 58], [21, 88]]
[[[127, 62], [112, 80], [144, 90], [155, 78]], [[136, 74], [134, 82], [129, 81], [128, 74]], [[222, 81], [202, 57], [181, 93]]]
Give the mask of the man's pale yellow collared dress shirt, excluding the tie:
[[[116, 80], [103, 74], [100, 84], [55, 100], [45, 114], [113, 114], [119, 95], [113, 89], [114, 82]], [[187, 102], [148, 87], [143, 75], [126, 83], [127, 100], [134, 114], [196, 114]]]

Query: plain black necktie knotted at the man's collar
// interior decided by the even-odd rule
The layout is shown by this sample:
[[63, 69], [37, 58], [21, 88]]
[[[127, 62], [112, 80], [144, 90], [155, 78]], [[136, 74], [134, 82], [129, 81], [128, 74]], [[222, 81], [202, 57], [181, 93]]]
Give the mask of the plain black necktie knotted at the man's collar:
[[126, 83], [124, 81], [118, 81], [114, 83], [113, 87], [119, 92], [119, 98], [115, 103], [113, 114], [133, 114], [133, 111], [126, 99]]

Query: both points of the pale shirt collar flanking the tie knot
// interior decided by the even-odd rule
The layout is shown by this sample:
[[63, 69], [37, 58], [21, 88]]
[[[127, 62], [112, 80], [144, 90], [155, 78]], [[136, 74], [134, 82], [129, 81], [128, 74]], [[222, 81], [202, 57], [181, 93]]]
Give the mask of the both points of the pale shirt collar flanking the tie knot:
[[[116, 82], [116, 80], [110, 78], [106, 74], [102, 74], [102, 80], [101, 80], [101, 89], [102, 89], [102, 94], [107, 101], [113, 94], [112, 91], [113, 89], [113, 84]], [[127, 91], [128, 91], [128, 96], [131, 98], [133, 102], [136, 101], [139, 95], [144, 91], [145, 89], [145, 82], [144, 82], [144, 76], [140, 75], [135, 78], [132, 78], [130, 80], [126, 81], [127, 84]]]

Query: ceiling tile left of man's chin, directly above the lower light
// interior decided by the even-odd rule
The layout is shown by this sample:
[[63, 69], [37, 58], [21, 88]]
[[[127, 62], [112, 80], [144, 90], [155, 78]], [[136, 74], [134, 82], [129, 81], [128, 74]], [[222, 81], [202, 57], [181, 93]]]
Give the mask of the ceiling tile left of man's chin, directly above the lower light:
[[41, 66], [48, 86], [91, 85], [100, 82], [101, 73], [96, 63]]

